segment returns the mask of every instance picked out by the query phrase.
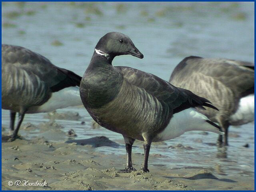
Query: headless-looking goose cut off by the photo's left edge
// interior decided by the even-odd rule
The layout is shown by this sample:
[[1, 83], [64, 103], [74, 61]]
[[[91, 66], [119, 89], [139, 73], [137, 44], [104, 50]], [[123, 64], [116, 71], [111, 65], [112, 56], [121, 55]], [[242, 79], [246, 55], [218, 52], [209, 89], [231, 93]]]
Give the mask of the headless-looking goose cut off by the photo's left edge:
[[10, 130], [14, 130], [16, 112], [19, 113], [10, 140], [16, 139], [26, 113], [82, 105], [79, 95], [81, 79], [31, 50], [2, 45], [2, 108], [10, 110]]

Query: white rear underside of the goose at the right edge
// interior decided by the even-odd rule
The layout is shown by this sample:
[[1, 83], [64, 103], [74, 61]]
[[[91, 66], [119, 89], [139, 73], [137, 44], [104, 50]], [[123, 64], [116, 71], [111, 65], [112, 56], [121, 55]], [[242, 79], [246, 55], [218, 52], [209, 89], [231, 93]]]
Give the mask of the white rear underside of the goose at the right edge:
[[254, 121], [254, 94], [241, 98], [235, 114], [230, 116], [231, 125], [242, 125], [252, 121]]

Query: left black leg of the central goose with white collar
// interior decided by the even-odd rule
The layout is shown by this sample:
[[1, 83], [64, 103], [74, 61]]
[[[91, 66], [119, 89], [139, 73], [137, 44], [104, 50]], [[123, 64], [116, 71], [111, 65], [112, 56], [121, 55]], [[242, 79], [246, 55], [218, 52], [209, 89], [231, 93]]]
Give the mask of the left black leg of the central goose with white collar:
[[126, 167], [125, 169], [119, 170], [122, 173], [130, 173], [132, 171], [136, 171], [132, 167], [132, 144], [134, 143], [134, 139], [124, 136], [125, 148], [126, 148]]

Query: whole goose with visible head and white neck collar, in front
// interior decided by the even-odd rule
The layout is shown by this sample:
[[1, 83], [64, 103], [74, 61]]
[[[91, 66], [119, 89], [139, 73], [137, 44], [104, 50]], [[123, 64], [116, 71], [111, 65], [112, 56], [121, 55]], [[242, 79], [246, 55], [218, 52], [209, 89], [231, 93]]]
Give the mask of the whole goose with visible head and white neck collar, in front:
[[209, 104], [205, 98], [176, 88], [152, 74], [129, 67], [114, 67], [115, 56], [130, 54], [143, 58], [128, 36], [110, 32], [103, 36], [80, 84], [82, 102], [101, 126], [123, 135], [127, 163], [121, 172], [131, 172], [132, 144], [144, 141], [142, 170], [148, 170], [151, 142], [176, 138], [186, 131], [204, 130], [218, 134], [220, 127], [194, 110]]

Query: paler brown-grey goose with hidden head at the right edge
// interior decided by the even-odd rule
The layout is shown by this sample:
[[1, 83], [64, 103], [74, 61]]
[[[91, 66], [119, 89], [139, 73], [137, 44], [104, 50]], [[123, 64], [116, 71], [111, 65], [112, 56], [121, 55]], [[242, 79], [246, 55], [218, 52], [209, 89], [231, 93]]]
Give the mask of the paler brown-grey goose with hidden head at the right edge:
[[[254, 121], [253, 63], [190, 56], [176, 66], [169, 82], [207, 98], [219, 109], [199, 110], [223, 128], [225, 146], [230, 125]], [[222, 135], [218, 142], [223, 144]]]

